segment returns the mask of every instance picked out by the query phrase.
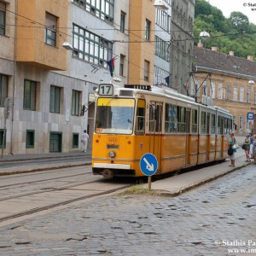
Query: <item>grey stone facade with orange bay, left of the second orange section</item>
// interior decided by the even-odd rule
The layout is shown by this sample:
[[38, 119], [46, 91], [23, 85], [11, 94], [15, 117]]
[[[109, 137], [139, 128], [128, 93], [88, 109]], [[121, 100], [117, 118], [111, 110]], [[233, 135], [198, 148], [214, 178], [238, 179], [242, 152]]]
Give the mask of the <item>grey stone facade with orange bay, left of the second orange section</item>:
[[128, 47], [119, 42], [128, 38], [120, 20], [128, 19], [129, 3], [116, 2], [0, 0], [3, 154], [79, 150], [83, 130], [91, 136], [97, 85], [116, 79], [121, 67], [117, 80], [126, 84]]

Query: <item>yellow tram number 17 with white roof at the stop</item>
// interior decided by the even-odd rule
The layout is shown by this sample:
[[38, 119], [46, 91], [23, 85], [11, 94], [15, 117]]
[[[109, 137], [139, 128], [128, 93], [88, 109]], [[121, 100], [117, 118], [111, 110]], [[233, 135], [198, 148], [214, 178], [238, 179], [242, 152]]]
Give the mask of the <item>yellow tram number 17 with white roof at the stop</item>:
[[155, 175], [225, 160], [232, 115], [157, 86], [100, 84], [96, 97], [92, 171], [104, 177], [143, 176], [143, 154]]

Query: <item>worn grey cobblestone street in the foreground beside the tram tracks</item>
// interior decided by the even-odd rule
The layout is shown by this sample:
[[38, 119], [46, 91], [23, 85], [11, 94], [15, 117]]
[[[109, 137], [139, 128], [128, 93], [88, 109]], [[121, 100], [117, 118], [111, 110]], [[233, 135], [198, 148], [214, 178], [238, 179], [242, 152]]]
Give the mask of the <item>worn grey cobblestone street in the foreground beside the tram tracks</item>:
[[174, 198], [102, 197], [0, 229], [1, 255], [256, 255], [255, 166]]

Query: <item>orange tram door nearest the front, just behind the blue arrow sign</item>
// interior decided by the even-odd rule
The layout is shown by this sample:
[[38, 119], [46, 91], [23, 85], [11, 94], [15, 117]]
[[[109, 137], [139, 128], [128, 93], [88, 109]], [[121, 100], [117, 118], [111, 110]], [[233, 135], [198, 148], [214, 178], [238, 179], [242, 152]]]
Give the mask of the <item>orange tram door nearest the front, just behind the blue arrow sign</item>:
[[162, 115], [163, 105], [160, 102], [150, 102], [149, 106], [149, 153], [154, 154], [158, 161], [158, 170], [161, 166], [162, 146]]

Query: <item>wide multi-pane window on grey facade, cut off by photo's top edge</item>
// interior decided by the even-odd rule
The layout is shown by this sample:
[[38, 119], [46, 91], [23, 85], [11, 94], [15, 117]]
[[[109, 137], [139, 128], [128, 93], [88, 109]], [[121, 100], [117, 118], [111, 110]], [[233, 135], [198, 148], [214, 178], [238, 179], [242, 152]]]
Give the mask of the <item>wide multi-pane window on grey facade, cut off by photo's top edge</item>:
[[86, 9], [90, 14], [113, 23], [114, 0], [73, 0], [73, 3]]

